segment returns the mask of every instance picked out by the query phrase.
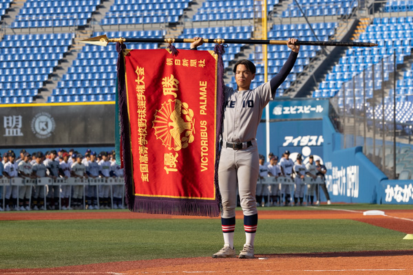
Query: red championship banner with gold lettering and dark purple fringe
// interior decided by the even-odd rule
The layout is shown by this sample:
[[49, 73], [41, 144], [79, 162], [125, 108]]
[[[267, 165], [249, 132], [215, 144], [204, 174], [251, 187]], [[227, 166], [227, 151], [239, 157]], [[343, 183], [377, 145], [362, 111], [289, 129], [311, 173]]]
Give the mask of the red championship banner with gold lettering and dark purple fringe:
[[[219, 214], [217, 64], [210, 51], [123, 50], [138, 212]], [[126, 159], [124, 159], [126, 161]], [[127, 166], [125, 166], [127, 167]]]

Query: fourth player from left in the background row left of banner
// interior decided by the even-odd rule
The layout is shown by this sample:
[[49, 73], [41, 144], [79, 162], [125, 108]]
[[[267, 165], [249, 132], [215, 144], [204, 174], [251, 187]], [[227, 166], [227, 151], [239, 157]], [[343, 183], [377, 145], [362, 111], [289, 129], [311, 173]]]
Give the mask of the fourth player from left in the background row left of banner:
[[[59, 177], [60, 164], [55, 160], [56, 156], [56, 150], [52, 150], [48, 152], [48, 155], [46, 155], [46, 159], [43, 162], [43, 164], [45, 164], [47, 168], [47, 175], [52, 177], [52, 179], [56, 179]], [[55, 210], [59, 208], [59, 192], [60, 186], [49, 186], [49, 190], [47, 192], [47, 209]]]

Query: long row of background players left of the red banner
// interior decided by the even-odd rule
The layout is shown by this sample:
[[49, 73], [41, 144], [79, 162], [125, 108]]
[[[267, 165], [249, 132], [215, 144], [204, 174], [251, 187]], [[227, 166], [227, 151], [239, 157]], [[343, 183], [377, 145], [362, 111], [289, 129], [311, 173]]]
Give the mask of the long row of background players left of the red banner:
[[[16, 158], [13, 151], [3, 153], [0, 162], [0, 178], [23, 177], [36, 179], [39, 177], [58, 177], [67, 179], [76, 178], [108, 178], [123, 177], [123, 169], [115, 161], [115, 153], [102, 151], [99, 154], [89, 149], [85, 155], [81, 155], [71, 149], [66, 152], [48, 151], [33, 153], [32, 155], [24, 149]], [[61, 185], [61, 186], [0, 186], [0, 211], [6, 210], [59, 210], [59, 195], [61, 197], [61, 209], [83, 209], [83, 186]], [[45, 190], [46, 188], [46, 190]], [[113, 208], [125, 208], [123, 204], [123, 186], [114, 185]], [[112, 206], [109, 197], [110, 186], [85, 186], [86, 208], [109, 209]], [[46, 206], [44, 205], [46, 194]], [[59, 194], [60, 193], [60, 194]], [[31, 194], [31, 203], [30, 203]], [[3, 206], [4, 196], [4, 206]], [[19, 197], [19, 205], [17, 204]], [[99, 203], [98, 203], [99, 202]]]

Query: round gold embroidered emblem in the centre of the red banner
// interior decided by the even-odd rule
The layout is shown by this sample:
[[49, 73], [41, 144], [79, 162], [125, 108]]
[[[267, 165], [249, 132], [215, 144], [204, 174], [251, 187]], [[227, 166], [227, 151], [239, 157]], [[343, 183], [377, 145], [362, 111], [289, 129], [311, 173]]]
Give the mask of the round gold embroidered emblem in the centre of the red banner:
[[168, 100], [155, 112], [152, 122], [157, 140], [169, 150], [180, 151], [195, 140], [195, 119], [186, 102]]

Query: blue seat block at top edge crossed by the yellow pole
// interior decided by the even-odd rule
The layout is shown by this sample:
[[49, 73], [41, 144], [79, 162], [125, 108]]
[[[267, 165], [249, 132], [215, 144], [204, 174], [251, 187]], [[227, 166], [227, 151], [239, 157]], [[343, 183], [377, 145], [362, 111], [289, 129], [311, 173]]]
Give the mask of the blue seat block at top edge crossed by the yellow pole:
[[[267, 11], [271, 12], [278, 0], [267, 0]], [[237, 20], [262, 17], [262, 5], [253, 0], [207, 0], [193, 16], [193, 21]]]

